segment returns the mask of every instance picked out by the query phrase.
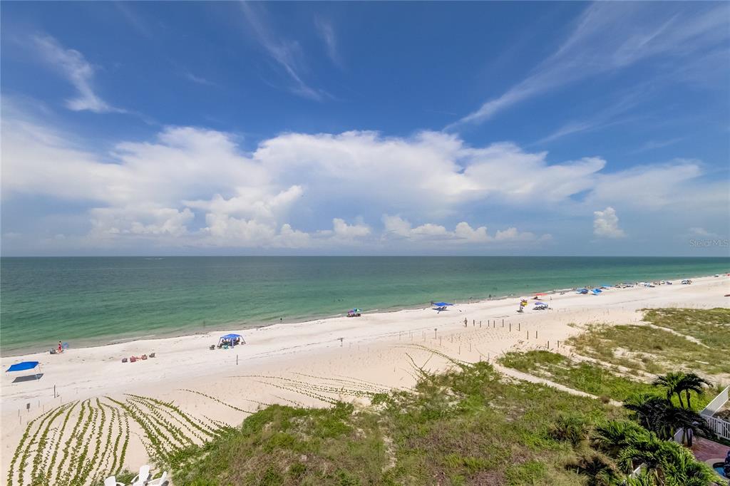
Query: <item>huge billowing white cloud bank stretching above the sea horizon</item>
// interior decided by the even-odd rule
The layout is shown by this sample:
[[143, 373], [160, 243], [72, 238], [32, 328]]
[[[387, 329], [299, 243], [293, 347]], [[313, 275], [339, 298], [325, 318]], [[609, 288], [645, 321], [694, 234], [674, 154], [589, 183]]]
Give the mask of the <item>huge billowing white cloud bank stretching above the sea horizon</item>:
[[[629, 218], [671, 211], [679, 231], [723, 233], [713, 222], [728, 203], [726, 185], [704, 180], [698, 161], [607, 173], [598, 157], [551, 163], [548, 153], [516, 144], [474, 147], [430, 131], [281, 134], [245, 152], [236, 136], [196, 127], [166, 127], [145, 142], [96, 153], [5, 104], [1, 121], [4, 202], [69, 201], [80, 208], [76, 232], [54, 231], [68, 242], [86, 238], [86, 247], [115, 239], [283, 248], [539, 243], [550, 238], [539, 236], [546, 215], [588, 220], [596, 207], [607, 208], [594, 215], [596, 236], [625, 236], [616, 210]], [[677, 197], [686, 190], [691, 200]], [[13, 223], [22, 212], [4, 224], [31, 239]], [[80, 234], [83, 224], [87, 234]], [[488, 232], [488, 224], [498, 231]]]

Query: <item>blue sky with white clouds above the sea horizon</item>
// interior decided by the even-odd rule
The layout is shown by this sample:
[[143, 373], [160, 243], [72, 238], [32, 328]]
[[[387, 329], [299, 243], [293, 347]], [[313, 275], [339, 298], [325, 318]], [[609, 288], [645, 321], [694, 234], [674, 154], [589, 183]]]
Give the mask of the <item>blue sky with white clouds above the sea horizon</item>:
[[727, 2], [20, 2], [1, 253], [729, 256]]

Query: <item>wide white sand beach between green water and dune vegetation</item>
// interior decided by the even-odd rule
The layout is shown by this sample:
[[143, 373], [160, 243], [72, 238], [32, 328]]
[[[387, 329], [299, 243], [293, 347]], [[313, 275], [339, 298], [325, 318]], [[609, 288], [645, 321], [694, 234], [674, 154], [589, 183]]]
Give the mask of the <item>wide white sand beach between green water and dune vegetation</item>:
[[[247, 412], [266, 404], [326, 406], [322, 397], [357, 400], [358, 390], [411, 387], [415, 383], [412, 362], [439, 370], [450, 364], [444, 355], [473, 362], [492, 360], [513, 349], [549, 346], [566, 352], [564, 340], [580, 332], [570, 323], [636, 322], [640, 319], [637, 309], [646, 307], [729, 306], [727, 293], [728, 277], [703, 277], [692, 285], [675, 281], [656, 288], [610, 289], [600, 296], [572, 291], [553, 294], [543, 298], [550, 310], [534, 311], [529, 306], [523, 314], [516, 312], [518, 298], [505, 298], [458, 304], [445, 312], [411, 309], [272, 325], [238, 331], [247, 344], [231, 350], [208, 349], [226, 331], [72, 348], [61, 355], [44, 352], [2, 358], [3, 371], [21, 360], [37, 360], [43, 373], [37, 381], [18, 383], [3, 373], [2, 474], [8, 477], [28, 421], [74, 401], [91, 398], [93, 403], [105, 397], [123, 401], [131, 393], [172, 401], [205, 420], [238, 425]], [[121, 362], [124, 357], [150, 352], [156, 357]], [[115, 434], [117, 429], [107, 430], [90, 434], [103, 438], [102, 434]], [[63, 429], [50, 435], [54, 433], [61, 436], [50, 440], [61, 444]], [[137, 468], [146, 460], [139, 435], [132, 433], [124, 463]], [[99, 472], [107, 465], [101, 464]]]

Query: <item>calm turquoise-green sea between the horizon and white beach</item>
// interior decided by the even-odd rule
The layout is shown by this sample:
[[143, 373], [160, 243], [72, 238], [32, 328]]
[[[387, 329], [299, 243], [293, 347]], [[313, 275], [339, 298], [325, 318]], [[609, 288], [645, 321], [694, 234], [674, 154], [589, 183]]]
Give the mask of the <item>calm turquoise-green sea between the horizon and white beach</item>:
[[0, 350], [730, 270], [730, 258], [2, 258]]

